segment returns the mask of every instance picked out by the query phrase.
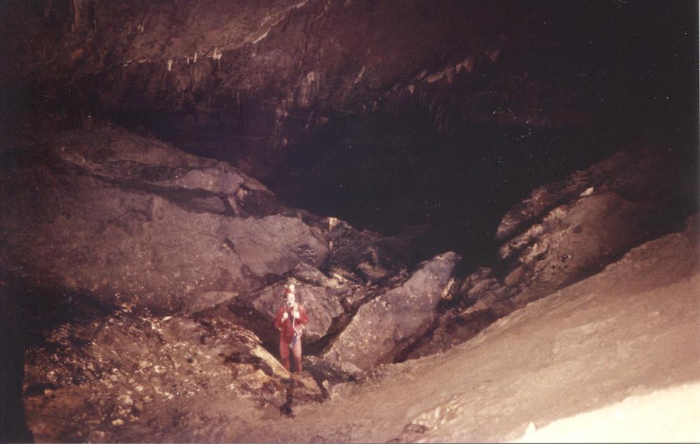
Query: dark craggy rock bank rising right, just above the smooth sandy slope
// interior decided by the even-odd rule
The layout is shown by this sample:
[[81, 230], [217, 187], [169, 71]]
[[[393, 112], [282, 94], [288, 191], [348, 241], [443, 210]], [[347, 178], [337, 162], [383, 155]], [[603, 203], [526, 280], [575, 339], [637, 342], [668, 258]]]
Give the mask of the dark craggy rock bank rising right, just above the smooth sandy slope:
[[498, 228], [501, 238], [519, 232], [500, 247], [500, 263], [465, 278], [459, 303], [408, 356], [463, 342], [532, 300], [601, 270], [631, 247], [677, 229], [692, 211], [681, 207], [680, 197], [697, 193], [696, 184], [676, 180], [677, 162], [664, 151], [624, 149], [534, 190]]

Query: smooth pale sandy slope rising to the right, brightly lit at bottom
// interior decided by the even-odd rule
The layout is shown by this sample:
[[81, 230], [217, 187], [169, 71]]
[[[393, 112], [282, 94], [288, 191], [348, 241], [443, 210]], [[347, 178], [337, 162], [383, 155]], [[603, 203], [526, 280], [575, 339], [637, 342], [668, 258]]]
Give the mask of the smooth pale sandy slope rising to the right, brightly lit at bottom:
[[692, 226], [633, 249], [449, 352], [385, 366], [363, 384], [337, 387], [334, 401], [297, 408], [293, 419], [230, 424], [230, 438], [699, 441]]

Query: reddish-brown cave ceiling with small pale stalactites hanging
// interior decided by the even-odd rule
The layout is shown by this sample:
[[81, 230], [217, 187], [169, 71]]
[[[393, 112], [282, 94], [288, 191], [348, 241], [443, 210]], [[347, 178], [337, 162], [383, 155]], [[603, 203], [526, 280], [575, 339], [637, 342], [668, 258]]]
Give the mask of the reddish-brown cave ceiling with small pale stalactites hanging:
[[[617, 88], [637, 67], [653, 61], [661, 74], [672, 72], [678, 85], [664, 88], [673, 92], [694, 82], [687, 67], [696, 51], [683, 34], [692, 25], [664, 22], [682, 22], [690, 9], [504, 0], [20, 2], [3, 5], [1, 69], [29, 93], [134, 127], [168, 127], [188, 146], [225, 134], [236, 146], [231, 158], [269, 173], [276, 165], [268, 161], [285, 158], [309, 132], [377, 110], [415, 112], [437, 132], [467, 122], [621, 119], [610, 99], [646, 104], [646, 95]], [[640, 28], [650, 32], [633, 32]], [[646, 50], [624, 50], [631, 47]], [[689, 57], [671, 55], [679, 47]], [[663, 81], [635, 77], [645, 93]]]

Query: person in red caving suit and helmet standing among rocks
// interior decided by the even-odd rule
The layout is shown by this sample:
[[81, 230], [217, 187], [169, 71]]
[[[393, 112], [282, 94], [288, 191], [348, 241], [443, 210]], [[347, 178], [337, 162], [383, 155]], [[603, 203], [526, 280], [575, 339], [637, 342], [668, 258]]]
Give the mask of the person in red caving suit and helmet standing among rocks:
[[294, 284], [288, 284], [284, 290], [284, 305], [277, 310], [274, 326], [279, 333], [279, 356], [282, 365], [290, 370], [289, 351], [294, 355], [295, 370], [302, 372], [302, 333], [309, 323], [306, 310], [296, 301]]

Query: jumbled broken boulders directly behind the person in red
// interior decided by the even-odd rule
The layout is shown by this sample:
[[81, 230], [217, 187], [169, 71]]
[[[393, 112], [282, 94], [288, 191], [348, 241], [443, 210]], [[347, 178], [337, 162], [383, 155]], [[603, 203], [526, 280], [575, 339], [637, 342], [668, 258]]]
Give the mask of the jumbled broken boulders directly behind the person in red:
[[[402, 243], [404, 239], [360, 232], [335, 218], [315, 221], [313, 228], [321, 233], [319, 237], [328, 239], [330, 253], [320, 266], [323, 272], [309, 263], [298, 263], [283, 275], [269, 273], [269, 285], [259, 291], [242, 293], [228, 304], [230, 312], [235, 313], [235, 322], [255, 331], [272, 349], [276, 349], [276, 342], [270, 340], [269, 329], [283, 303], [287, 284], [296, 285], [297, 300], [309, 314], [304, 343], [311, 345], [342, 330], [358, 307], [377, 296], [381, 289], [405, 279], [405, 268], [400, 267], [406, 265], [396, 252], [409, 251], [407, 243]], [[388, 247], [389, 244], [394, 247]], [[266, 265], [271, 268], [269, 263]], [[253, 319], [240, 319], [238, 315], [245, 313], [251, 313]], [[230, 314], [217, 315], [233, 320]]]

